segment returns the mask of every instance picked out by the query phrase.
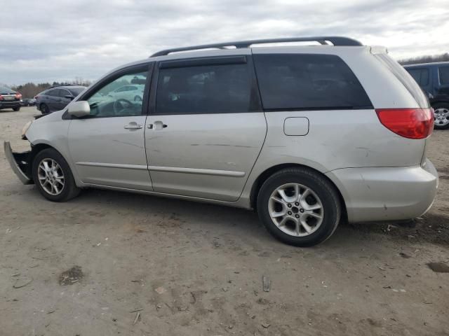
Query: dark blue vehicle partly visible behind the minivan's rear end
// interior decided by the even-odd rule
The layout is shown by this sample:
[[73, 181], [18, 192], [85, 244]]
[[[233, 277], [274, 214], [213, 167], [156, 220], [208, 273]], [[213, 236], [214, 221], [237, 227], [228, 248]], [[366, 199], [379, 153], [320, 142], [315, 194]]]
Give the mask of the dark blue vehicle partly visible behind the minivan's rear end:
[[426, 92], [434, 108], [435, 128], [449, 128], [449, 62], [404, 66]]

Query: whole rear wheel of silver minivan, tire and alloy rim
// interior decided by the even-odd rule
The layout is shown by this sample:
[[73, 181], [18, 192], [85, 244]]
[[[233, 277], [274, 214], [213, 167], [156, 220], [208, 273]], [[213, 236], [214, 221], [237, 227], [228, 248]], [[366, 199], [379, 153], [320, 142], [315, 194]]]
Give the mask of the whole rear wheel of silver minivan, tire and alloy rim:
[[328, 239], [340, 222], [340, 197], [318, 173], [304, 168], [276, 172], [260, 188], [257, 212], [267, 230], [294, 246]]

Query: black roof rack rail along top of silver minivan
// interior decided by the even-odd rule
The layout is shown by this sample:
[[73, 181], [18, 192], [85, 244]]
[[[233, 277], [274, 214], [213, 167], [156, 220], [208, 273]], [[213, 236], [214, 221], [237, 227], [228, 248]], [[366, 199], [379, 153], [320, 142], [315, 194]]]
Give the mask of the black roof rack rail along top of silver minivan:
[[283, 42], [309, 42], [316, 41], [321, 43], [322, 45], [327, 45], [328, 41], [333, 45], [344, 45], [344, 46], [360, 46], [363, 45], [357, 40], [348, 37], [342, 36], [311, 36], [311, 37], [286, 37], [286, 38], [264, 38], [260, 40], [248, 40], [248, 41], [235, 41], [235, 42], [226, 42], [226, 43], [213, 43], [213, 44], [203, 44], [203, 45], [192, 45], [184, 48], [173, 48], [166, 49], [155, 52], [150, 57], [156, 56], [164, 56], [168, 55], [171, 52], [180, 52], [180, 51], [188, 51], [188, 50], [201, 50], [201, 49], [209, 49], [209, 48], [217, 48], [217, 49], [225, 49], [226, 47], [235, 47], [239, 48], [249, 48], [250, 45], [253, 44], [264, 44], [264, 43], [283, 43]]

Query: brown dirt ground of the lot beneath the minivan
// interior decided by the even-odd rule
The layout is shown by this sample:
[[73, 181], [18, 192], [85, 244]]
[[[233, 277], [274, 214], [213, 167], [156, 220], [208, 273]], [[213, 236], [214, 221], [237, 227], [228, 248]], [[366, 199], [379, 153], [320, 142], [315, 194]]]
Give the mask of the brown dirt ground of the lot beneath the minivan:
[[[36, 113], [0, 111], [26, 148]], [[449, 335], [449, 130], [428, 157], [434, 207], [414, 225], [340, 225], [273, 239], [253, 212], [112, 191], [55, 204], [0, 149], [0, 335]], [[262, 276], [271, 290], [262, 290]]]

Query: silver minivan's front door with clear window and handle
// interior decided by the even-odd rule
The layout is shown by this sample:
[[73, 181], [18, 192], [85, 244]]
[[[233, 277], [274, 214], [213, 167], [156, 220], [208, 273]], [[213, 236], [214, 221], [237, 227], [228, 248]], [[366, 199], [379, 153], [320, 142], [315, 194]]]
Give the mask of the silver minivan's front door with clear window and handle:
[[[148, 94], [143, 102], [130, 102], [116, 87], [133, 76], [150, 80], [151, 65], [113, 73], [88, 90], [80, 100], [91, 115], [73, 118], [69, 125], [69, 151], [81, 181], [95, 186], [152, 190], [145, 155], [145, 119]], [[145, 85], [148, 92], [149, 85]]]

